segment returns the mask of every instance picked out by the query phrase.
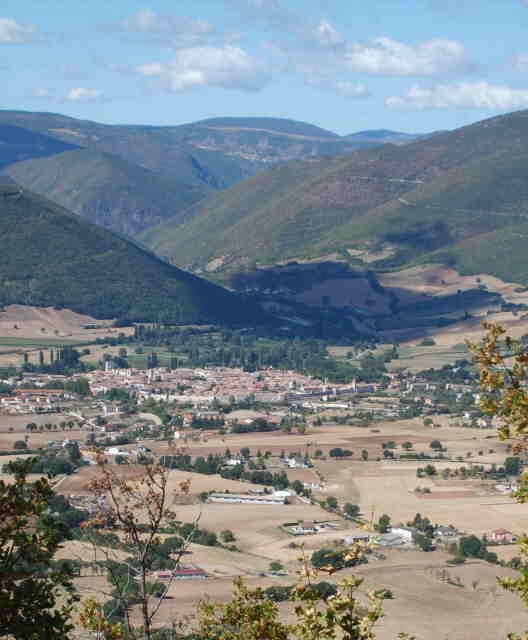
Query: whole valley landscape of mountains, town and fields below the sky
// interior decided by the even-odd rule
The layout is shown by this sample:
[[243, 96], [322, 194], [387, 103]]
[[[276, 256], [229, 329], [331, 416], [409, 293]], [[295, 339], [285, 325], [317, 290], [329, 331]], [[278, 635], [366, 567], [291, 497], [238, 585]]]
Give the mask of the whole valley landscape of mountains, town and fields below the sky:
[[2, 150], [0, 479], [49, 475], [82, 599], [141, 623], [126, 525], [93, 482], [158, 469], [155, 630], [189, 616], [192, 637], [239, 578], [293, 622], [300, 561], [330, 592], [364, 579], [361, 607], [388, 589], [380, 640], [522, 628], [496, 578], [522, 562], [526, 458], [468, 346], [484, 323], [528, 335], [519, 114], [417, 138], [0, 122], [27, 127]]

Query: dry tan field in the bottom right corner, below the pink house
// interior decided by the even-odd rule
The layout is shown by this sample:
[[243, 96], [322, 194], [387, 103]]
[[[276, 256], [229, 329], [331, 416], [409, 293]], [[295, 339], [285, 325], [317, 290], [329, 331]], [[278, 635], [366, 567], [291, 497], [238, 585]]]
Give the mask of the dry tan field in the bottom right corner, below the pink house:
[[[497, 585], [496, 576], [514, 572], [483, 561], [450, 567], [445, 554], [392, 551], [387, 561], [358, 568], [363, 588], [384, 587], [394, 594], [385, 603], [379, 640], [405, 631], [419, 640], [497, 640], [524, 630], [526, 609]], [[463, 624], [461, 624], [463, 621]]]

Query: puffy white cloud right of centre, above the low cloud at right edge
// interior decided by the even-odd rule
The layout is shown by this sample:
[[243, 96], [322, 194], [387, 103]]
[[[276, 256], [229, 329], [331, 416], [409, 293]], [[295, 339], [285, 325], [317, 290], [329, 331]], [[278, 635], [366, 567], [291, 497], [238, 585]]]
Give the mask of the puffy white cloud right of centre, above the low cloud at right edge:
[[455, 40], [428, 40], [413, 47], [390, 38], [351, 43], [345, 53], [353, 71], [392, 76], [434, 75], [468, 66], [463, 45]]

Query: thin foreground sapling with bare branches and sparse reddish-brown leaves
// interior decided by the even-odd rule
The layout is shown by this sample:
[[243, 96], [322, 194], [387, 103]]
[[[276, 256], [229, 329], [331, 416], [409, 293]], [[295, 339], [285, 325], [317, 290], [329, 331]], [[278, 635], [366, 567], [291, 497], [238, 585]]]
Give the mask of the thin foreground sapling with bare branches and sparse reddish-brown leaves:
[[[175, 529], [176, 514], [170, 505], [175, 491], [170, 491], [170, 470], [159, 464], [145, 465], [136, 473], [127, 473], [126, 465], [114, 470], [98, 457], [98, 477], [88, 484], [97, 501], [98, 509], [93, 518], [83, 523], [85, 537], [92, 540], [94, 548], [106, 558], [101, 563], [107, 572], [115, 603], [108, 608], [95, 600], [85, 604], [81, 621], [87, 629], [101, 638], [126, 637], [152, 640], [155, 637], [154, 622], [163, 598], [174, 581], [174, 575], [163, 584], [152, 581], [156, 554], [162, 545], [161, 534]], [[189, 491], [189, 482], [178, 485], [179, 493]], [[191, 532], [180, 538], [177, 549], [171, 550], [170, 567], [179, 564], [192, 541], [199, 517], [192, 523]], [[113, 550], [105, 552], [99, 532], [109, 529], [119, 536], [123, 550], [130, 554], [117, 561]], [[140, 610], [141, 624], [134, 624], [133, 606]], [[121, 619], [112, 624], [112, 619]], [[119, 635], [121, 634], [121, 635]]]

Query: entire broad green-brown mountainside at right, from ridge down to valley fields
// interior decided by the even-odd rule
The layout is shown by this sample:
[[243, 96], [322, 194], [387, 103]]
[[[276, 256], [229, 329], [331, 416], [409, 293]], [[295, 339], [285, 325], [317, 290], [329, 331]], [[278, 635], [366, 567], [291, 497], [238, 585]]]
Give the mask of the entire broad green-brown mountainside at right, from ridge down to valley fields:
[[[369, 268], [445, 259], [470, 270], [465, 253], [478, 250], [480, 236], [512, 239], [510, 227], [528, 217], [527, 115], [277, 167], [198, 203], [185, 224], [170, 221], [144, 240], [195, 267], [222, 258], [215, 264], [240, 269], [248, 259], [269, 264], [385, 247], [390, 255]], [[525, 262], [518, 244], [512, 251]], [[521, 271], [501, 268], [506, 278]]]

